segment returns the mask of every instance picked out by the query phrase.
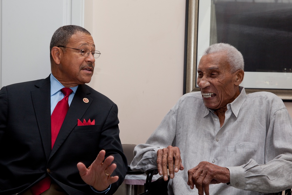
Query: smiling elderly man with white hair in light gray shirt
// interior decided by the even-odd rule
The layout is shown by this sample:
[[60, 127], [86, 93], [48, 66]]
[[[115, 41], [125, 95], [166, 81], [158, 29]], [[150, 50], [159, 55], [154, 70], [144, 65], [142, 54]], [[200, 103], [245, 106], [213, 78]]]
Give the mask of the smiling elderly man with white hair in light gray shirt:
[[[200, 92], [182, 96], [146, 144], [132, 170], [157, 168], [168, 194], [256, 195], [292, 187], [292, 120], [269, 92], [246, 94], [241, 53], [214, 44], [202, 56]], [[211, 185], [210, 185], [211, 184]]]

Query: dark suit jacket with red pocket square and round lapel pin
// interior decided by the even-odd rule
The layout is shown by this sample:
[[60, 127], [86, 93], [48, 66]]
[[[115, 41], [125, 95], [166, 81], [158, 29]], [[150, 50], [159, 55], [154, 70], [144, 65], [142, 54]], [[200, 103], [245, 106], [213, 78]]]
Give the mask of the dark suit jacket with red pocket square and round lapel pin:
[[[88, 103], [83, 98], [89, 100]], [[79, 175], [101, 149], [114, 156], [119, 181], [127, 170], [119, 139], [118, 108], [106, 96], [79, 85], [51, 150], [50, 77], [3, 87], [0, 91], [0, 194], [15, 194], [50, 176], [68, 194], [95, 194]], [[95, 125], [77, 126], [77, 119]]]

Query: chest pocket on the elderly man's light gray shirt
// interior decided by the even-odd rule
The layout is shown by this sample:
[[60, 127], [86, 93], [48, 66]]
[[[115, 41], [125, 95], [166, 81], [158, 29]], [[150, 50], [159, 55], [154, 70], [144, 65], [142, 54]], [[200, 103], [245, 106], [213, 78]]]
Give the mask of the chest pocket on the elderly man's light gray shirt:
[[258, 144], [245, 141], [228, 146], [227, 166], [240, 166], [246, 164], [251, 158], [255, 159], [257, 148]]

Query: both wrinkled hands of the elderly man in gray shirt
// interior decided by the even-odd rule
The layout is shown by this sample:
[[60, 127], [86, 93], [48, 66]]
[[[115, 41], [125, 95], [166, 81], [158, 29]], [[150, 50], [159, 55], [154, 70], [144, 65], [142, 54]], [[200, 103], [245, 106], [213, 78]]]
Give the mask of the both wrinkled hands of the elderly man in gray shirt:
[[[157, 151], [157, 169], [159, 175], [163, 175], [164, 181], [168, 179], [167, 165], [171, 179], [175, 172], [184, 169], [178, 147], [168, 146]], [[187, 175], [187, 184], [191, 189], [194, 189], [195, 186], [199, 195], [204, 195], [204, 192], [209, 195], [209, 184], [230, 182], [230, 172], [227, 168], [206, 161], [200, 162], [196, 167], [188, 170]]]

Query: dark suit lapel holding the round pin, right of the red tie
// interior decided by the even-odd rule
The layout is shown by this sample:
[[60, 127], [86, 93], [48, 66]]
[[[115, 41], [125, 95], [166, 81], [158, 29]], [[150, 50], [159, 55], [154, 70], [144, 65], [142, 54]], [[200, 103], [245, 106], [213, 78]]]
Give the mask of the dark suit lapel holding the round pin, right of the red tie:
[[[90, 106], [92, 98], [88, 94], [90, 92], [85, 89], [84, 85], [78, 86], [49, 158], [63, 144], [74, 127], [77, 126], [77, 119], [81, 119]], [[88, 103], [83, 101], [84, 98], [88, 99]]]

